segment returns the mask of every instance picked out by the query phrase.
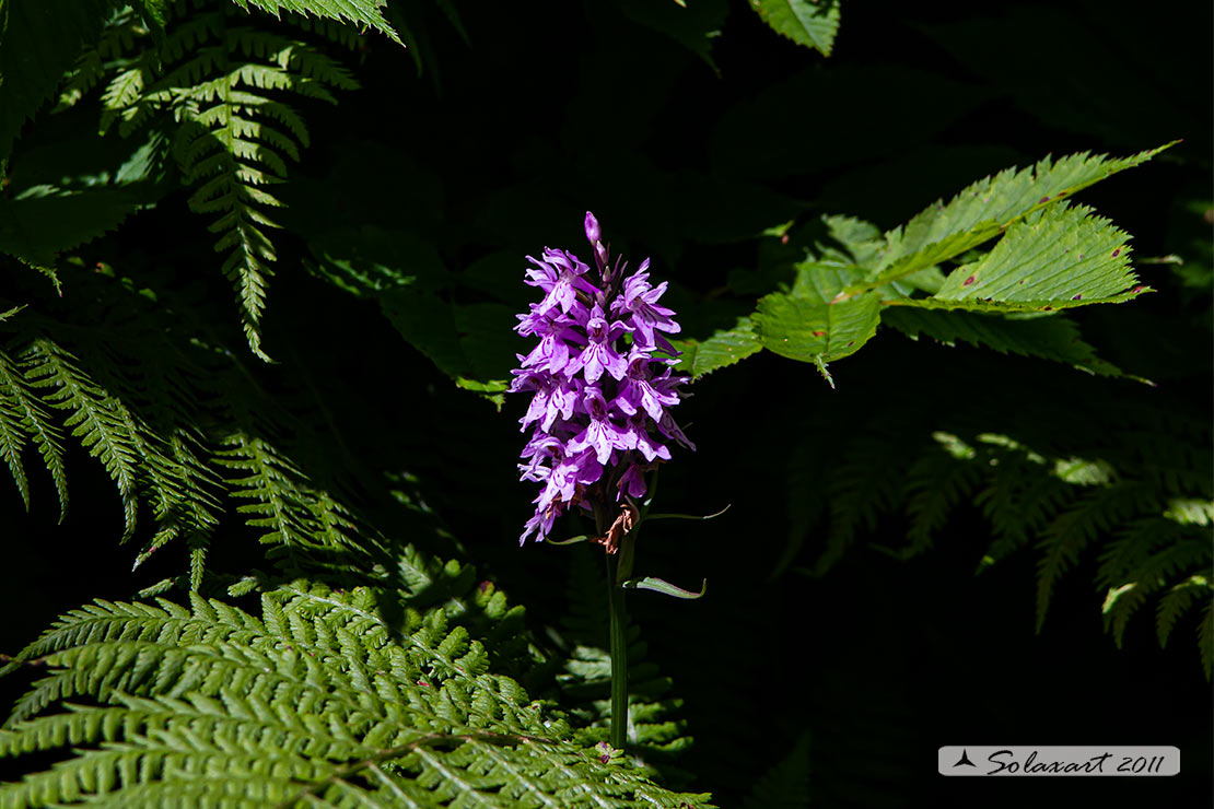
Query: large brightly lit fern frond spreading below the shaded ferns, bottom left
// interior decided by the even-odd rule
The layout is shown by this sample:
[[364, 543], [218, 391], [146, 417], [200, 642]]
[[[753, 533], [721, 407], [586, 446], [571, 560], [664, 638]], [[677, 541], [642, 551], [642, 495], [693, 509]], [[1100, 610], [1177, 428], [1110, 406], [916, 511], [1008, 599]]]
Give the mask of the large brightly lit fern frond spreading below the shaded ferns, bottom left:
[[260, 615], [158, 604], [74, 610], [8, 665], [46, 674], [0, 753], [76, 754], [0, 787], [0, 807], [709, 805], [585, 750], [489, 671], [478, 638], [405, 593], [301, 580]]

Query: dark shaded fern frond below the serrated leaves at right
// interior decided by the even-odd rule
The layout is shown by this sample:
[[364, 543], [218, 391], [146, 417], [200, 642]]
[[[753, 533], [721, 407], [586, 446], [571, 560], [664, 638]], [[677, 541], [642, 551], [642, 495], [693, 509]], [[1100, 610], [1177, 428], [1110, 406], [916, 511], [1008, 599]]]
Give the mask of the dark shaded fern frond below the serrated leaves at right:
[[[966, 375], [955, 383], [968, 389], [971, 382]], [[1040, 405], [1036, 392], [975, 401], [953, 391], [942, 391], [940, 400], [958, 397], [957, 410], [932, 405], [927, 418], [914, 404], [898, 401], [867, 415], [826, 410], [799, 426], [806, 438], [795, 450], [800, 477], [792, 480], [790, 506], [794, 518], [804, 511], [807, 519], [794, 529], [810, 532], [813, 508], [827, 505], [823, 491], [830, 495], [829, 542], [818, 564], [838, 558], [861, 534], [874, 547], [878, 520], [896, 508], [903, 509], [908, 542], [894, 553], [914, 556], [963, 503], [972, 503], [991, 525], [978, 572], [1036, 546], [1038, 629], [1063, 574], [1094, 549], [1113, 642], [1121, 645], [1129, 620], [1153, 600], [1157, 634], [1165, 642], [1187, 610], [1208, 597], [1204, 582], [1214, 581], [1208, 420], [1162, 408], [1155, 392], [1125, 397], [1116, 406], [1101, 400], [1096, 420], [1094, 414], [1034, 412]], [[841, 418], [852, 426], [849, 434], [822, 429]], [[1000, 423], [1006, 432], [980, 432], [975, 422]], [[957, 426], [936, 428], [949, 423]], [[931, 443], [918, 440], [929, 431]], [[830, 458], [829, 472], [807, 477], [822, 458]], [[785, 551], [788, 560], [798, 552], [796, 540]], [[1204, 661], [1204, 646], [1202, 655]]]

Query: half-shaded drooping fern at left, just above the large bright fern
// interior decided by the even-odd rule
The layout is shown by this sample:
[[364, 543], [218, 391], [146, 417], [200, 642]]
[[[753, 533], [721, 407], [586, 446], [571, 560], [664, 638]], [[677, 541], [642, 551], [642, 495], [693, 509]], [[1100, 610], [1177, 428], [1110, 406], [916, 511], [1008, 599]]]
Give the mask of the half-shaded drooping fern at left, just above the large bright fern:
[[[271, 438], [312, 428], [268, 398], [231, 351], [183, 330], [171, 296], [153, 300], [109, 272], [78, 279], [84, 303], [63, 320], [25, 312], [0, 326], [15, 335], [0, 348], [0, 457], [18, 494], [32, 489], [33, 444], [66, 508], [64, 446], [87, 449], [118, 488], [121, 536], [136, 534], [141, 518], [135, 568], [171, 542], [188, 548], [188, 572], [147, 593], [202, 586], [225, 513], [274, 545], [271, 557], [291, 576], [300, 565], [367, 574], [376, 564], [387, 565], [378, 579], [390, 575], [397, 560], [388, 541], [354, 514], [334, 489], [339, 482], [314, 482], [287, 455], [294, 445]], [[63, 435], [64, 426], [74, 429]], [[510, 655], [517, 645], [509, 638], [503, 649]]]

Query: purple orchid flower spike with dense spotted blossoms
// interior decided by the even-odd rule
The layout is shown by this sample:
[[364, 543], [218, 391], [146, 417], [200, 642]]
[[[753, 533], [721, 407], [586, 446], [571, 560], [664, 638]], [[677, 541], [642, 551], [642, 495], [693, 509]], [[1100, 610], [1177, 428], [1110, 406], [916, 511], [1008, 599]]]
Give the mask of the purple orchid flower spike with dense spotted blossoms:
[[[619, 513], [631, 517], [629, 501], [645, 495], [645, 474], [670, 460], [668, 444], [696, 449], [670, 415], [687, 395], [677, 388], [688, 377], [671, 371], [679, 352], [660, 334], [680, 331], [674, 311], [658, 303], [666, 284], [649, 284], [648, 260], [634, 273], [622, 261], [613, 267], [590, 212], [585, 229], [594, 272], [565, 250], [527, 257], [533, 267], [526, 283], [544, 297], [518, 315], [515, 330], [539, 342], [518, 355], [510, 389], [533, 393], [520, 420], [532, 437], [518, 471], [543, 490], [520, 543], [532, 534], [546, 537], [573, 507], [600, 525], [618, 523]], [[666, 355], [654, 357], [656, 351]], [[618, 534], [596, 541], [614, 553]]]

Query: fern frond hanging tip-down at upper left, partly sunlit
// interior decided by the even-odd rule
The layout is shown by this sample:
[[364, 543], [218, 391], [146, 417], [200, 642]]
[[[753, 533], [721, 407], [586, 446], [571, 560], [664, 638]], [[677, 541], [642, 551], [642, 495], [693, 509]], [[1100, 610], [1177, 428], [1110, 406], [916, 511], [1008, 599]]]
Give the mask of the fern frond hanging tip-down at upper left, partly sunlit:
[[[255, 5], [361, 22], [375, 8], [345, 1]], [[299, 160], [308, 143], [302, 118], [283, 98], [336, 103], [330, 89], [358, 85], [307, 42], [228, 24], [229, 13], [197, 12], [170, 25], [158, 46], [144, 45], [106, 87], [102, 129], [120, 121], [127, 136], [160, 113], [171, 116], [172, 153], [185, 183], [194, 187], [188, 205], [215, 217], [209, 229], [217, 234], [215, 250], [223, 255], [221, 270], [236, 290], [245, 337], [253, 353], [268, 360], [260, 324], [277, 261], [270, 232], [278, 226], [267, 211], [282, 203], [267, 187], [285, 181], [287, 161]], [[378, 10], [374, 17], [381, 19]]]

